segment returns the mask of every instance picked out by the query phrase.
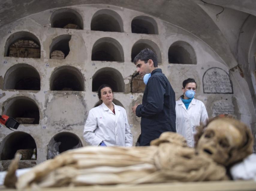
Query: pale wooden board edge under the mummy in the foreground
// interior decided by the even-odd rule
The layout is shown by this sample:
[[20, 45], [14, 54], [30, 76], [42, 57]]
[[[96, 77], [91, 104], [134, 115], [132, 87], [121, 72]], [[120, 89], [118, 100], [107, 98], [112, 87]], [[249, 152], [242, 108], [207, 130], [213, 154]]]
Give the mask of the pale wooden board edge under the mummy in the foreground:
[[[14, 191], [15, 189], [0, 190]], [[33, 189], [25, 189], [30, 191]], [[40, 191], [251, 191], [256, 190], [255, 181], [209, 181], [209, 182], [175, 182], [162, 184], [90, 186], [45, 188]]]

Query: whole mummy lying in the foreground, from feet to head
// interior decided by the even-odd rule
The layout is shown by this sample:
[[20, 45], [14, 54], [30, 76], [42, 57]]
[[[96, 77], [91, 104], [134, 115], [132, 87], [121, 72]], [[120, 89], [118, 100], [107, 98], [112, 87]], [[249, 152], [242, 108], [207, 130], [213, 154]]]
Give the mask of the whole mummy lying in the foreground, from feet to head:
[[198, 130], [195, 149], [187, 147], [181, 135], [165, 132], [149, 147], [69, 150], [38, 164], [17, 181], [18, 160], [14, 160], [4, 185], [24, 189], [227, 180], [226, 167], [252, 153], [251, 131], [240, 121], [219, 118]]

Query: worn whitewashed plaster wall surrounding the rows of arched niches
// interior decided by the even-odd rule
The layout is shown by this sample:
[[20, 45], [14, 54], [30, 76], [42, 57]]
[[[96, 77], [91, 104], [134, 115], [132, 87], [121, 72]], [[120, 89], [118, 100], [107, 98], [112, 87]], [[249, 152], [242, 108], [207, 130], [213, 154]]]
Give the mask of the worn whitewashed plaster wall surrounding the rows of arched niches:
[[[196, 98], [203, 101], [209, 117], [223, 114], [227, 111], [238, 119], [250, 124], [252, 116], [248, 112], [248, 102], [244, 93], [240, 91], [240, 75], [231, 76], [234, 93], [204, 93], [203, 76], [212, 68], [218, 67], [229, 74], [227, 64], [200, 38], [192, 35], [170, 23], [153, 16], [111, 5], [84, 5], [66, 7], [77, 11], [83, 19], [83, 30], [51, 28], [51, 14], [58, 10], [46, 10], [20, 19], [0, 28], [0, 105], [1, 114], [8, 109], [8, 103], [13, 98], [25, 96], [34, 100], [39, 109], [39, 124], [21, 124], [18, 131], [28, 133], [34, 138], [37, 145], [37, 163], [46, 160], [47, 145], [50, 140], [62, 132], [70, 132], [79, 138], [83, 146], [88, 144], [83, 138], [83, 128], [88, 116], [88, 111], [99, 101], [97, 93], [92, 91], [92, 77], [100, 69], [106, 67], [118, 70], [124, 81], [124, 92], [114, 92], [114, 98], [119, 101], [127, 111], [128, 120], [135, 144], [140, 134], [140, 118], [132, 113], [131, 107], [141, 103], [143, 93], [131, 93], [132, 75], [136, 73], [136, 67], [131, 62], [133, 45], [141, 39], [154, 42], [161, 51], [161, 63], [159, 68], [169, 79], [176, 99], [182, 94], [182, 81], [186, 78], [195, 78], [197, 82]], [[91, 31], [90, 21], [98, 10], [111, 9], [118, 13], [123, 21], [124, 33]], [[158, 35], [131, 33], [131, 21], [136, 16], [150, 16], [158, 25]], [[41, 58], [16, 58], [4, 56], [7, 39], [16, 32], [27, 31], [34, 34], [40, 41]], [[52, 40], [61, 35], [71, 35], [69, 41], [70, 52], [63, 60], [50, 59]], [[113, 38], [121, 44], [124, 53], [124, 61], [92, 61], [91, 53], [94, 43], [100, 38]], [[171, 64], [168, 63], [168, 49], [176, 41], [189, 43], [194, 51], [197, 63]], [[4, 78], [7, 70], [15, 64], [25, 63], [33, 66], [40, 75], [40, 90], [5, 90]], [[72, 66], [81, 72], [84, 91], [53, 91], [50, 90], [51, 76], [61, 66]], [[107, 82], [106, 82], [107, 83]], [[223, 108], [216, 108], [216, 106]], [[239, 107], [238, 107], [239, 106]], [[225, 110], [225, 108], [229, 108]], [[2, 127], [0, 130], [0, 142], [2, 142], [11, 130]], [[3, 147], [3, 145], [1, 145]], [[1, 152], [0, 147], [0, 152]]]

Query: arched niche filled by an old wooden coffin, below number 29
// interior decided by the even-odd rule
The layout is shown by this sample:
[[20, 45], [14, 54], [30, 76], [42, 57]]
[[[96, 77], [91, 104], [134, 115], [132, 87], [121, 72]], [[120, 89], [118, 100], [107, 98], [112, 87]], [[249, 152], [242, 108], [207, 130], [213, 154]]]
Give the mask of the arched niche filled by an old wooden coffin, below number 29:
[[4, 56], [40, 58], [40, 41], [32, 33], [21, 31], [12, 34], [6, 41]]

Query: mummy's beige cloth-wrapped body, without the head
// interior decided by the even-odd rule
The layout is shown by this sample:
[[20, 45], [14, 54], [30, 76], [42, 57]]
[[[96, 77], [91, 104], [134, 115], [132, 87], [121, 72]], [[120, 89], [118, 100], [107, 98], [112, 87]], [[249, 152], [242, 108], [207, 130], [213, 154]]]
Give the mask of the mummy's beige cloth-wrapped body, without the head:
[[16, 188], [227, 179], [225, 167], [197, 155], [176, 133], [165, 133], [155, 144], [70, 150], [21, 175]]

